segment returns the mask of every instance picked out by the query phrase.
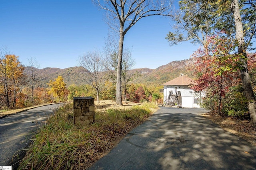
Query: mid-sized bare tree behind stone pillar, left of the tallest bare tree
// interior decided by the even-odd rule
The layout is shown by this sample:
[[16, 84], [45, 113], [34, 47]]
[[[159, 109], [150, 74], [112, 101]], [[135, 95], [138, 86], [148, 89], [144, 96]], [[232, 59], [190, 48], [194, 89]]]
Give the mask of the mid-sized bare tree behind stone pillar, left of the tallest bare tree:
[[105, 67], [102, 61], [100, 51], [94, 50], [87, 52], [79, 59], [78, 76], [86, 84], [89, 84], [96, 90], [97, 101], [100, 102], [99, 93], [105, 84]]

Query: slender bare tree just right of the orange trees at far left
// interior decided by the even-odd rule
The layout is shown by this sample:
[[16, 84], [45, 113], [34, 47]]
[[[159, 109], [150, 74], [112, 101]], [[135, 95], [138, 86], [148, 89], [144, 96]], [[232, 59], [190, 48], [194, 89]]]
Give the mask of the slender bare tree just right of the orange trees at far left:
[[40, 68], [40, 64], [38, 64], [36, 57], [30, 57], [28, 59], [28, 66], [26, 67], [27, 72], [27, 80], [31, 86], [31, 97], [32, 100], [34, 98], [34, 89], [37, 88], [38, 82], [40, 81], [40, 75], [38, 74], [38, 69]]

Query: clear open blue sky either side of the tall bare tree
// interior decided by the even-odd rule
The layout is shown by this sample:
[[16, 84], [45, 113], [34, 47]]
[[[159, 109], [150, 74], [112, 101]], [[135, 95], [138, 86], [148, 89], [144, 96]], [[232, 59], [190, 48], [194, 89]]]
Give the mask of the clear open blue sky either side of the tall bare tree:
[[[78, 66], [87, 51], [103, 50], [109, 26], [104, 10], [90, 0], [1, 0], [0, 46], [19, 56], [25, 66], [35, 57], [40, 68]], [[152, 16], [138, 21], [125, 35], [132, 47], [134, 68], [157, 68], [189, 59], [198, 45], [184, 42], [170, 47], [169, 18]]]

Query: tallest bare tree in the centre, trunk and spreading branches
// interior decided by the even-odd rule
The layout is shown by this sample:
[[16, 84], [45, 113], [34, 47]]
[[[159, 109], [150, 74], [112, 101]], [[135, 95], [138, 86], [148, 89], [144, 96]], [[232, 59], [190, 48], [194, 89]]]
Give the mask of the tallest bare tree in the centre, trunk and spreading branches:
[[99, 8], [106, 10], [108, 24], [119, 32], [118, 64], [116, 80], [116, 104], [122, 105], [122, 57], [124, 35], [140, 19], [148, 16], [168, 16], [170, 0], [92, 0]]

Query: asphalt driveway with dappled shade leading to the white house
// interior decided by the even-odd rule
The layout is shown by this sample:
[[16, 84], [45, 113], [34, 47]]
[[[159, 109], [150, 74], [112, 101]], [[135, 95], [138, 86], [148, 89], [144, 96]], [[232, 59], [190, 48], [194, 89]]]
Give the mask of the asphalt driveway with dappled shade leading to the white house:
[[90, 170], [255, 170], [256, 147], [203, 112], [160, 107]]

